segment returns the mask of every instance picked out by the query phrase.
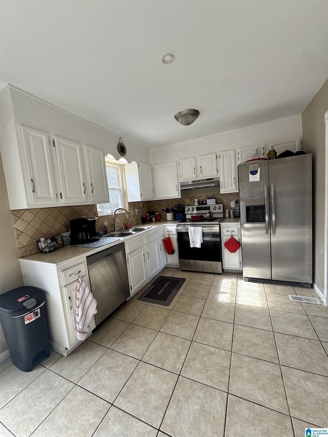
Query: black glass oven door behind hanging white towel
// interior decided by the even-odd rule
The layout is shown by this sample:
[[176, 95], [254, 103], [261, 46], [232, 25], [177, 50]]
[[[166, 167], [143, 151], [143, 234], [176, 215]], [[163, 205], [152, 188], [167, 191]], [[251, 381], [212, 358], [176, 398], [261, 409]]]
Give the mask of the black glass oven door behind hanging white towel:
[[221, 263], [221, 240], [217, 226], [202, 228], [203, 242], [199, 248], [190, 247], [188, 229], [189, 226], [177, 227], [179, 259]]

